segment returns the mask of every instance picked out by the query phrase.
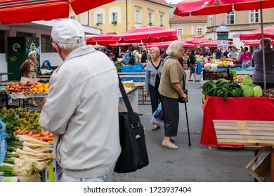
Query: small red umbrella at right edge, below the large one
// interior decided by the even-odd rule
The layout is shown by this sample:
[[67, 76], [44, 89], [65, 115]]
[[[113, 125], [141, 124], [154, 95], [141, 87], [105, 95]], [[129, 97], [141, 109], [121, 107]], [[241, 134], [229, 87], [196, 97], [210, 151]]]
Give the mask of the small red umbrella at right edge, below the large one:
[[[263, 37], [268, 37], [274, 39], [274, 27], [266, 27], [263, 28]], [[249, 31], [244, 34], [240, 34], [240, 40], [254, 40], [261, 39], [261, 29], [256, 29], [253, 31]]]

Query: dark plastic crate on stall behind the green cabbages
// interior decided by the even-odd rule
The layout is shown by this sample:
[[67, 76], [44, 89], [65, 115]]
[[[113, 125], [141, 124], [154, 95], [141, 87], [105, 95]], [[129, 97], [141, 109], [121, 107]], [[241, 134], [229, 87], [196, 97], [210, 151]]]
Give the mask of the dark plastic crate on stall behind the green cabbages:
[[204, 69], [202, 71], [203, 80], [218, 80], [224, 78], [229, 80], [229, 71], [228, 70], [214, 70], [214, 69]]

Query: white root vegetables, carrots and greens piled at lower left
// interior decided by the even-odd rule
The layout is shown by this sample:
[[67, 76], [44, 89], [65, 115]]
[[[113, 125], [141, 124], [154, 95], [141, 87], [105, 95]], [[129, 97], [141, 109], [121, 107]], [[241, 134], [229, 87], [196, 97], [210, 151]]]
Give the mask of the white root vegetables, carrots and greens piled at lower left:
[[39, 116], [39, 111], [30, 109], [1, 109], [0, 118], [9, 136], [0, 164], [4, 176], [31, 176], [44, 171], [55, 159], [53, 134], [41, 129]]

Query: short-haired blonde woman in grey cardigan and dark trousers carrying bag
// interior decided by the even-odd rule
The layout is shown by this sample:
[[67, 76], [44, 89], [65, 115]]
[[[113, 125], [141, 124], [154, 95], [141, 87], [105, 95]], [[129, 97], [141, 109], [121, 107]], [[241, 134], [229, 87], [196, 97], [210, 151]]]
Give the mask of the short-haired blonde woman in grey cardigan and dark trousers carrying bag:
[[[157, 47], [150, 48], [151, 61], [148, 62], [145, 71], [145, 97], [150, 96], [152, 113], [155, 113], [159, 106], [160, 95], [158, 92], [158, 87], [160, 83], [160, 78], [162, 74], [162, 62], [163, 59], [159, 57], [160, 51]], [[152, 130], [158, 130], [159, 126], [152, 125]]]

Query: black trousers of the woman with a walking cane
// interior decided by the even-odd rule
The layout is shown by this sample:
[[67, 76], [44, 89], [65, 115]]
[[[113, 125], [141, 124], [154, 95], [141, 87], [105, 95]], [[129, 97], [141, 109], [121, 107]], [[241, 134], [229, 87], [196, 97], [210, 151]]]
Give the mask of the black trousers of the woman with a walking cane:
[[179, 102], [161, 95], [164, 116], [164, 136], [176, 137], [179, 125]]

